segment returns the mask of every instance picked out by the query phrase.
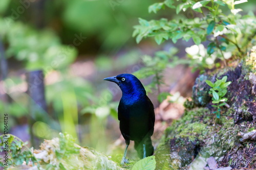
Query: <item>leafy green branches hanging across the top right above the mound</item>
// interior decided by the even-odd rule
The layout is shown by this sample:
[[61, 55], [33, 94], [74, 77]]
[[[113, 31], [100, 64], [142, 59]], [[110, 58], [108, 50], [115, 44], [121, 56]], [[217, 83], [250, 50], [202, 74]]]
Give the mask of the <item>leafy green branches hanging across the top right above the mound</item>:
[[[237, 48], [239, 53], [246, 52], [248, 38], [255, 35], [256, 19], [252, 12], [247, 15], [240, 15], [242, 9], [234, 6], [244, 1], [234, 0], [166, 0], [163, 3], [155, 3], [148, 8], [149, 12], [157, 13], [165, 7], [176, 9], [179, 17], [168, 20], [150, 20], [139, 18], [138, 26], [135, 26], [133, 36], [139, 43], [144, 37], [154, 37], [157, 44], [171, 39], [174, 43], [182, 39], [188, 41], [193, 39], [196, 45], [208, 40], [207, 57], [211, 56], [219, 59], [227, 59], [230, 52]], [[183, 12], [192, 11], [192, 18], [186, 18]], [[239, 43], [238, 43], [239, 42]], [[202, 60], [201, 60], [202, 61]], [[203, 61], [202, 61], [203, 62]], [[214, 64], [203, 64], [209, 67]], [[201, 68], [202, 69], [202, 68]]]

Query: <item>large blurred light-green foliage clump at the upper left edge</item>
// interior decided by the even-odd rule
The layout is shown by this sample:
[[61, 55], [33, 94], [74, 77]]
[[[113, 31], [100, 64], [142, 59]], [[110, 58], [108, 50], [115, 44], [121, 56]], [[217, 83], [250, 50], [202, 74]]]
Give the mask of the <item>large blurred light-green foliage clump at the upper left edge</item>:
[[7, 57], [25, 61], [27, 69], [44, 69], [45, 72], [66, 68], [77, 51], [63, 45], [51, 30], [36, 31], [22, 22], [0, 17], [0, 36], [8, 43]]

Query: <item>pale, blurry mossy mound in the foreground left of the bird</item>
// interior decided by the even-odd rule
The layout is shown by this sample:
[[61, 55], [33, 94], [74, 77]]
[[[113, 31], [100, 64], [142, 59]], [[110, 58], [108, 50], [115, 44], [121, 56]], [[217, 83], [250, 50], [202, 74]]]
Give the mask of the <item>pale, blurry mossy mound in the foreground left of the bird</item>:
[[[7, 169], [124, 169], [102, 153], [92, 148], [80, 147], [74, 141], [72, 136], [60, 133], [60, 137], [42, 142], [39, 150], [31, 148], [34, 155], [32, 160], [26, 164], [10, 165]], [[17, 158], [10, 159], [15, 161]]]

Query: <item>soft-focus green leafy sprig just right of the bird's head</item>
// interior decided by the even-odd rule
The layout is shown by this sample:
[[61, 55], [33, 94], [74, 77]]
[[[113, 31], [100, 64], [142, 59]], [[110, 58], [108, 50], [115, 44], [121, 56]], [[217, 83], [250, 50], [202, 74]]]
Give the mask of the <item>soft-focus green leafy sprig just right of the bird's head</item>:
[[162, 102], [168, 95], [166, 92], [160, 93], [160, 86], [163, 83], [162, 73], [167, 67], [173, 67], [175, 63], [178, 63], [178, 57], [175, 54], [178, 52], [177, 48], [170, 48], [169, 51], [159, 51], [154, 57], [144, 56], [142, 58], [144, 67], [140, 68], [133, 74], [139, 79], [152, 78], [150, 84], [146, 85], [147, 92], [158, 92], [158, 100]]

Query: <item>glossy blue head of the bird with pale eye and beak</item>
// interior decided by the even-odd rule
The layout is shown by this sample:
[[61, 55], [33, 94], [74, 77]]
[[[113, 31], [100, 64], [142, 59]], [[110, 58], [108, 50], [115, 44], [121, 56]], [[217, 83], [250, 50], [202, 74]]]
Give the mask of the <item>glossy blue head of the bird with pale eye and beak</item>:
[[123, 94], [146, 94], [145, 88], [139, 79], [131, 74], [121, 74], [103, 80], [116, 83]]

